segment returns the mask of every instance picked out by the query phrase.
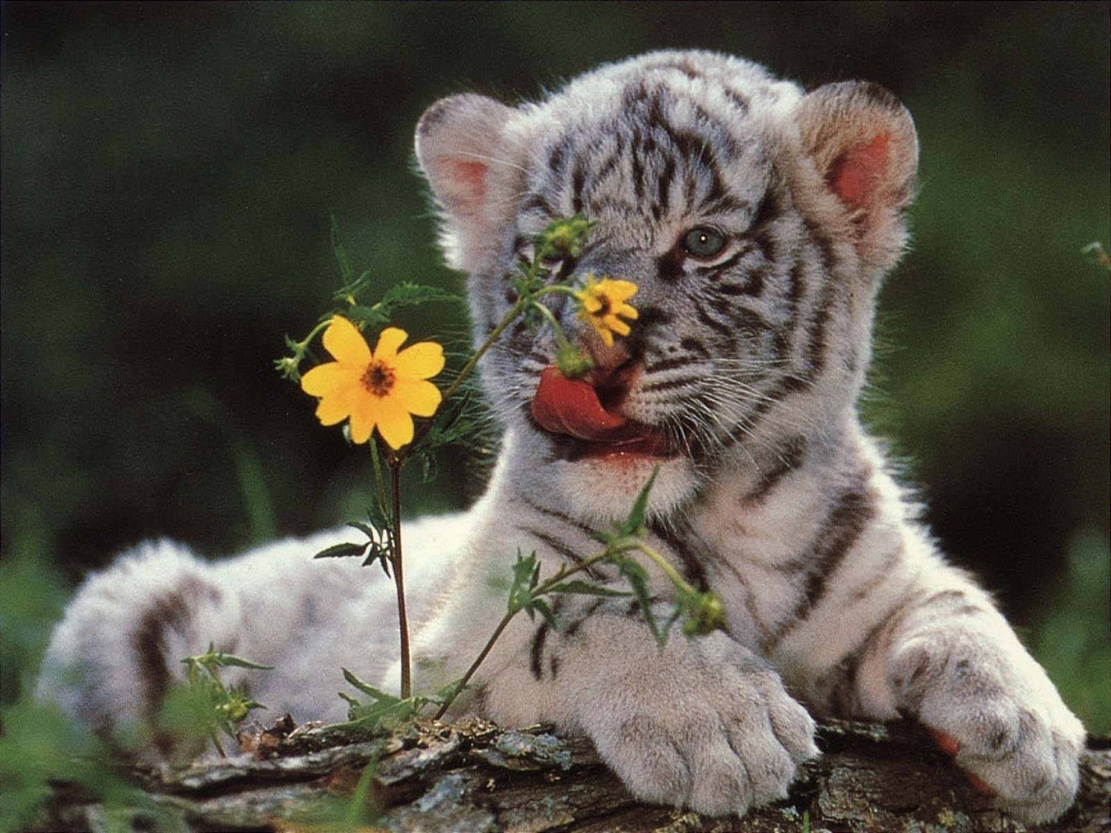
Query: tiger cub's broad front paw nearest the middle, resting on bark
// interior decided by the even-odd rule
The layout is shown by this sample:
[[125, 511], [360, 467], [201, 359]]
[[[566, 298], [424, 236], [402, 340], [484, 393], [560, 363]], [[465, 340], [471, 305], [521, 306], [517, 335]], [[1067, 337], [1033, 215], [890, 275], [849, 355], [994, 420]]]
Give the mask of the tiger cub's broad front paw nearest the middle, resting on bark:
[[654, 705], [625, 691], [622, 705], [638, 707], [588, 729], [599, 753], [645, 801], [740, 815], [785, 797], [798, 765], [818, 754], [813, 720], [751, 658], [702, 671]]

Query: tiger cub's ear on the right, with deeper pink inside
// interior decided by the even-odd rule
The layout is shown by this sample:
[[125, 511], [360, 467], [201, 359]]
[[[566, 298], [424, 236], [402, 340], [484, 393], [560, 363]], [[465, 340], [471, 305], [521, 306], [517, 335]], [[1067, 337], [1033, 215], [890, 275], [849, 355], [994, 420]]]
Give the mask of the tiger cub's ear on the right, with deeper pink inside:
[[907, 108], [878, 84], [832, 83], [802, 99], [799, 128], [825, 187], [849, 211], [861, 259], [893, 265], [907, 243], [903, 210], [918, 170], [918, 136]]

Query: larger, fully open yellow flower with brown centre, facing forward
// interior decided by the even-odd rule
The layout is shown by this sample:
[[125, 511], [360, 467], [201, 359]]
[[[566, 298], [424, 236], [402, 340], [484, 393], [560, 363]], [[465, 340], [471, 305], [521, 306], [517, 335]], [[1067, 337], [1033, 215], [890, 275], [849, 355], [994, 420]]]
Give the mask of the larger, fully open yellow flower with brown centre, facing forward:
[[376, 426], [394, 450], [412, 442], [410, 414], [431, 416], [440, 407], [440, 391], [426, 380], [443, 370], [443, 348], [422, 341], [399, 353], [407, 338], [404, 330], [388, 327], [371, 352], [354, 324], [332, 317], [323, 340], [336, 361], [301, 378], [301, 390], [320, 397], [320, 422], [334, 425], [350, 418], [354, 443], [367, 442]]

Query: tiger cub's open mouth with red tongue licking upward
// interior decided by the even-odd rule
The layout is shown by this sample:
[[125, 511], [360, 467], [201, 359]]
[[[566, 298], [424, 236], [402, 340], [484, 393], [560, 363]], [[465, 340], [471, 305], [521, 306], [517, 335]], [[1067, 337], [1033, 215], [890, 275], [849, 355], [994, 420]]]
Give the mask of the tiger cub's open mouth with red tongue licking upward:
[[540, 373], [530, 413], [541, 430], [553, 435], [564, 460], [677, 456], [679, 450], [665, 434], [618, 410], [627, 393], [625, 385], [594, 387], [548, 367]]

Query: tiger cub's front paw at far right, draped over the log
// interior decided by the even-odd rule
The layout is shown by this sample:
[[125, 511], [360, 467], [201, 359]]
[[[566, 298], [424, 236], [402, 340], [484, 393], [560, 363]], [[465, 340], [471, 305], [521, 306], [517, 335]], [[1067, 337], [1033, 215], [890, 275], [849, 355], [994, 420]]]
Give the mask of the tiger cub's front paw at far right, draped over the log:
[[893, 670], [921, 697], [918, 717], [941, 749], [1000, 809], [1028, 824], [1069, 809], [1084, 727], [1033, 660], [1000, 661], [915, 640], [897, 654]]

